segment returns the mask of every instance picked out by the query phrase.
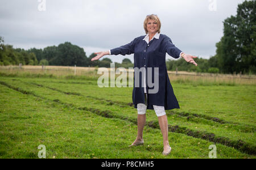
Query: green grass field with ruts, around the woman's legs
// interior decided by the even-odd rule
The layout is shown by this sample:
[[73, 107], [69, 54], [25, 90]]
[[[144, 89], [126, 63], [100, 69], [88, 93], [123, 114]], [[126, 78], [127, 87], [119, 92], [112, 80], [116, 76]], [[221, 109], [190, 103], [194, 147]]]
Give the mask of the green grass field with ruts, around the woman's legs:
[[[137, 135], [133, 88], [99, 88], [97, 75], [0, 71], [0, 158], [255, 158], [255, 79], [170, 75], [180, 109], [166, 111], [172, 152], [163, 156], [154, 111], [144, 145]], [[243, 83], [246, 82], [246, 83]]]

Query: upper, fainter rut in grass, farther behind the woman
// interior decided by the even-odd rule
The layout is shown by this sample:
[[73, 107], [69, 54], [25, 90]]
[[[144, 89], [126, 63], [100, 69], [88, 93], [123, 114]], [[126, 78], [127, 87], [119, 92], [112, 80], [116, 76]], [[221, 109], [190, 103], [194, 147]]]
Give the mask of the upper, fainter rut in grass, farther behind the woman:
[[[20, 82], [23, 82], [23, 81], [20, 80]], [[108, 102], [107, 105], [115, 104], [115, 105], [118, 105], [119, 107], [126, 107], [127, 105], [130, 106], [130, 107], [134, 106], [133, 103], [125, 103], [125, 102], [122, 102], [122, 101], [112, 101], [112, 100], [102, 99], [102, 98], [98, 98], [98, 97], [94, 97], [94, 96], [85, 96], [85, 95], [82, 95], [82, 94], [77, 93], [77, 92], [65, 92], [65, 91], [59, 90], [57, 88], [43, 86], [42, 84], [38, 84], [38, 83], [35, 83], [35, 82], [23, 82], [23, 83], [31, 83], [31, 84], [34, 84], [35, 86], [45, 87], [45, 88], [48, 88], [50, 90], [61, 92], [61, 93], [66, 94], [66, 95], [83, 96], [83, 97], [88, 97], [88, 98], [94, 99], [94, 100], [106, 101], [106, 102]], [[192, 122], [196, 122], [196, 123], [200, 122], [200, 120], [199, 120], [199, 118], [200, 118], [201, 120], [203, 120], [200, 123], [207, 124], [207, 125], [209, 125], [209, 123], [205, 122], [205, 120], [212, 121], [212, 122], [217, 122], [221, 125], [229, 124], [229, 125], [231, 125], [231, 126], [228, 126], [229, 129], [236, 130], [236, 131], [242, 132], [242, 133], [254, 133], [254, 131], [255, 131], [255, 127], [253, 127], [253, 126], [242, 126], [242, 125], [239, 125], [239, 124], [234, 123], [234, 122], [228, 122], [228, 121], [222, 120], [221, 118], [210, 117], [210, 116], [207, 116], [207, 115], [204, 115], [204, 114], [184, 113], [184, 112], [179, 113], [179, 112], [175, 112], [175, 111], [170, 111], [170, 112], [166, 112], [166, 113], [167, 113], [167, 116], [171, 116], [171, 115], [176, 114], [178, 117], [187, 117], [188, 121], [192, 121]]]

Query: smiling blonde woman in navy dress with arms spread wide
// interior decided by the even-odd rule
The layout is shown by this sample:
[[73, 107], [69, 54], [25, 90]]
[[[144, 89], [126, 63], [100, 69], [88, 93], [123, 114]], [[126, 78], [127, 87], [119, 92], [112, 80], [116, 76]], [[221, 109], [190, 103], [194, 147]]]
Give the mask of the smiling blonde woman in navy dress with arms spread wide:
[[[163, 155], [168, 155], [171, 152], [171, 147], [168, 142], [168, 122], [165, 110], [179, 108], [179, 103], [174, 95], [170, 80], [168, 78], [166, 69], [166, 53], [174, 58], [182, 57], [185, 61], [197, 63], [193, 60], [195, 56], [185, 54], [180, 49], [172, 44], [171, 39], [163, 34], [160, 34], [161, 23], [157, 15], [147, 15], [144, 20], [144, 30], [146, 36], [135, 38], [129, 44], [114, 48], [106, 52], [98, 52], [97, 56], [92, 58], [92, 61], [100, 59], [105, 55], [118, 55], [134, 54], [134, 67], [138, 69], [145, 69], [146, 72], [139, 74], [140, 80], [144, 78], [144, 82], [139, 83], [139, 87], [133, 88], [133, 104], [138, 110], [138, 134], [135, 141], [130, 146], [142, 145], [144, 143], [142, 133], [146, 123], [146, 109], [154, 109], [156, 116], [158, 116], [159, 126], [163, 134]], [[158, 69], [148, 74], [148, 68]], [[151, 93], [152, 87], [148, 86], [148, 76], [151, 80], [157, 75], [158, 90]], [[142, 76], [143, 75], [143, 76]], [[137, 80], [137, 79], [136, 79]], [[135, 81], [134, 81], [135, 82]], [[136, 82], [135, 82], [136, 83]]]

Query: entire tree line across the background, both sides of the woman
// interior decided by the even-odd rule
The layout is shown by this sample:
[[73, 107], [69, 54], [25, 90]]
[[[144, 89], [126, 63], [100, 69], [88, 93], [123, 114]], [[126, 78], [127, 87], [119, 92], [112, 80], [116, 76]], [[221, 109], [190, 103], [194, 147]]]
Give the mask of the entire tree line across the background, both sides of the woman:
[[[209, 59], [195, 58], [198, 66], [185, 62], [184, 59], [166, 62], [167, 70], [196, 71], [203, 73], [243, 73], [256, 74], [256, 6], [255, 1], [245, 1], [238, 5], [237, 15], [224, 20], [224, 36], [216, 43], [216, 55]], [[110, 67], [110, 58], [90, 61], [96, 54], [86, 57], [84, 49], [71, 42], [44, 49], [14, 49], [5, 45], [0, 37], [0, 65], [56, 65]], [[133, 67], [130, 59], [115, 63], [115, 67]]]

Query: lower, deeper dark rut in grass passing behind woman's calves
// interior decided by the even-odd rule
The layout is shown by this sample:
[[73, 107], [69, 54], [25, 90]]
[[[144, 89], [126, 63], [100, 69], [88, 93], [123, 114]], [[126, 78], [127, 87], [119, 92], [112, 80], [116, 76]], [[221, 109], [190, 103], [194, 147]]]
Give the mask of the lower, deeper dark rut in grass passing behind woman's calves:
[[[115, 114], [112, 113], [112, 111], [108, 111], [108, 110], [101, 111], [100, 109], [95, 109], [95, 108], [76, 107], [73, 104], [64, 103], [63, 101], [60, 101], [58, 99], [50, 100], [50, 99], [47, 99], [46, 97], [35, 95], [34, 92], [32, 92], [32, 91], [23, 90], [22, 88], [12, 86], [12, 85], [10, 85], [6, 82], [3, 82], [3, 81], [0, 81], [0, 84], [2, 84], [3, 86], [9, 87], [9, 88], [11, 88], [15, 91], [21, 92], [22, 94], [32, 95], [32, 96], [38, 97], [40, 99], [53, 101], [55, 103], [64, 105], [65, 107], [72, 107], [74, 109], [79, 109], [79, 110], [82, 110], [82, 111], [89, 111], [91, 113], [94, 113], [94, 114], [97, 114], [99, 116], [106, 117], [106, 118], [118, 118], [120, 120], [129, 121], [129, 122], [132, 122], [133, 124], [137, 125], [137, 119], [136, 118], [115, 115]], [[147, 121], [146, 125], [149, 126], [150, 128], [160, 129], [158, 121], [149, 121], [149, 122]], [[210, 141], [210, 142], [214, 142], [214, 143], [220, 143], [220, 144], [228, 146], [228, 147], [236, 148], [237, 150], [239, 150], [241, 152], [245, 152], [246, 154], [250, 154], [250, 155], [255, 155], [256, 154], [256, 147], [255, 146], [252, 146], [252, 145], [250, 145], [250, 144], [248, 144], [244, 141], [241, 141], [241, 140], [234, 141], [234, 140], [231, 140], [227, 137], [218, 137], [213, 133], [207, 133], [205, 131], [192, 130], [192, 129], [188, 129], [186, 127], [181, 127], [181, 126], [178, 126], [178, 125], [176, 125], [176, 126], [168, 125], [168, 131], [173, 132], [173, 133], [186, 134], [186, 135], [194, 137], [194, 138], [201, 138], [201, 139], [204, 139], [204, 140], [207, 140], [207, 141]]]

